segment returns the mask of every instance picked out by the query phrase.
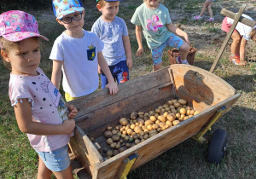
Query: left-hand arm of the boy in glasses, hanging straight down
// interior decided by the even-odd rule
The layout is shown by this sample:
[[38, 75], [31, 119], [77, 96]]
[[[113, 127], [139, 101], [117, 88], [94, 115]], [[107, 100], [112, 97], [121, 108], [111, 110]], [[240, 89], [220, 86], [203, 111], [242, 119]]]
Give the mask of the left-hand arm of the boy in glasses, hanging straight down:
[[62, 61], [53, 60], [52, 64], [52, 73], [51, 73], [51, 82], [55, 84], [55, 87], [59, 90], [61, 84], [61, 66]]

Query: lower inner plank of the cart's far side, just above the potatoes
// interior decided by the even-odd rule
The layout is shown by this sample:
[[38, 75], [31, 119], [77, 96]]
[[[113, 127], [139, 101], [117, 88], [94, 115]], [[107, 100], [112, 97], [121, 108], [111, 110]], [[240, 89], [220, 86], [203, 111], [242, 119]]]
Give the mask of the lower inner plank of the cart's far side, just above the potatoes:
[[123, 101], [109, 104], [96, 111], [88, 111], [86, 114], [87, 119], [80, 120], [77, 124], [79, 124], [79, 127], [87, 134], [102, 125], [112, 124], [114, 121], [117, 122], [119, 118], [130, 115], [132, 112], [140, 110], [143, 107], [148, 107], [148, 104], [154, 104], [156, 101], [169, 98], [169, 96], [172, 95], [171, 88], [171, 83], [162, 84], [159, 87], [144, 90], [143, 93], [132, 95], [125, 98]]

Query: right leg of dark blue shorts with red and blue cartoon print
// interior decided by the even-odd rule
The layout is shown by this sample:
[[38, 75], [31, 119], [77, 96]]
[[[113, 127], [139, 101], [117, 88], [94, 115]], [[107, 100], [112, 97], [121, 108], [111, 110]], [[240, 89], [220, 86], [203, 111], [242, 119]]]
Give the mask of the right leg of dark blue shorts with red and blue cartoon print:
[[118, 84], [129, 80], [129, 68], [126, 64], [126, 61], [119, 61], [119, 63], [115, 65], [113, 75], [116, 78]]

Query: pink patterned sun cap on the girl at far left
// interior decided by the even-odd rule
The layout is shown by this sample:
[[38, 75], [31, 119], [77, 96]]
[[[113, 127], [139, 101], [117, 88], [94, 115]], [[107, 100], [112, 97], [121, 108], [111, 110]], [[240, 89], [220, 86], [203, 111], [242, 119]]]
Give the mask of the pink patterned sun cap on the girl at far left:
[[34, 16], [20, 10], [10, 10], [0, 14], [0, 37], [11, 42], [32, 37], [49, 40], [38, 32], [38, 21]]

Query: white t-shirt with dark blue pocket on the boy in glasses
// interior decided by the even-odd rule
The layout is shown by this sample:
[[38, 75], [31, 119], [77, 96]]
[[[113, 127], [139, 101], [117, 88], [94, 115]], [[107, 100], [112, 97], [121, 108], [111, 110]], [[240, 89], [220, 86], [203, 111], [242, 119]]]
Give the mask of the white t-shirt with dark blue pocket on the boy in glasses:
[[84, 30], [83, 38], [62, 32], [56, 38], [49, 59], [63, 61], [63, 90], [72, 97], [88, 95], [99, 85], [97, 53], [104, 47], [95, 33]]

